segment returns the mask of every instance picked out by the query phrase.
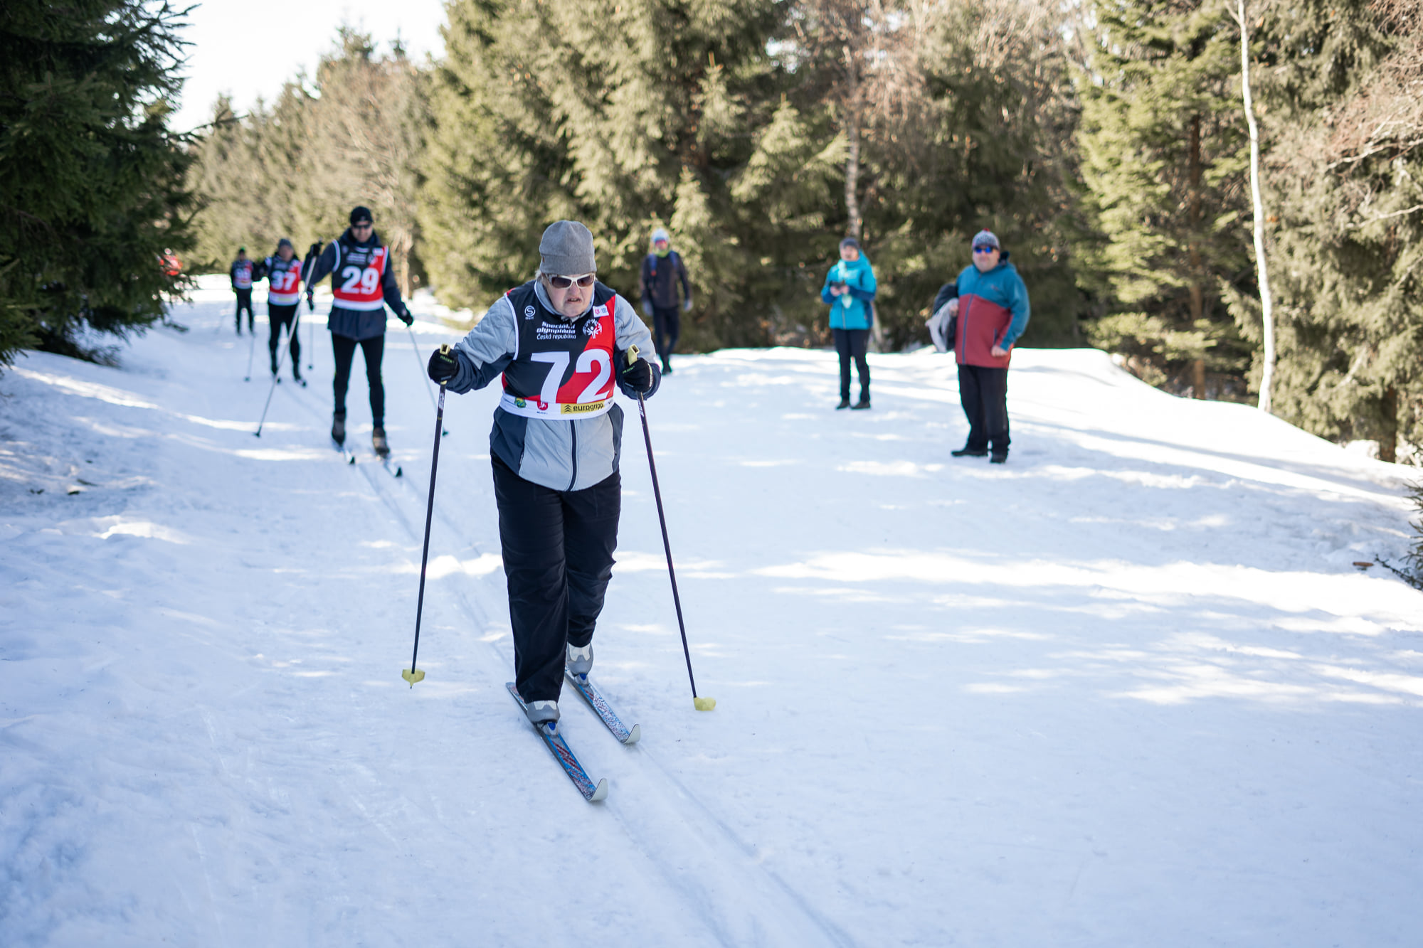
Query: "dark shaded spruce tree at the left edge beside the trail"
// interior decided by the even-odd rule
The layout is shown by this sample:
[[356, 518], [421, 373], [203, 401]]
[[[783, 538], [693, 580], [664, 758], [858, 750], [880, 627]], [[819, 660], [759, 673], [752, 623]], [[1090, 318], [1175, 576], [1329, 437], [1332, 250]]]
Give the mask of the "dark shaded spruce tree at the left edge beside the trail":
[[181, 14], [141, 0], [9, 0], [0, 19], [0, 364], [102, 357], [164, 317], [189, 248], [188, 157], [166, 127]]

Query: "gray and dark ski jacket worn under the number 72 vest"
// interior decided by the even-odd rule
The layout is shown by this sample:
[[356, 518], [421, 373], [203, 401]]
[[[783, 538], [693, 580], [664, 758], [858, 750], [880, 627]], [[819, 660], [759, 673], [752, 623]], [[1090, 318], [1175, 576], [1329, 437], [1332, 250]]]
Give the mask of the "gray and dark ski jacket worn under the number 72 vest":
[[[522, 320], [532, 320], [536, 316], [542, 322], [552, 316], [571, 327], [586, 330], [585, 323], [595, 319], [593, 303], [599, 299], [608, 299], [612, 302], [613, 310], [616, 353], [613, 364], [618, 387], [625, 396], [638, 397], [636, 391], [622, 384], [625, 353], [630, 346], [638, 346], [639, 356], [652, 364], [652, 390], [643, 397], [655, 394], [662, 384], [662, 372], [656, 363], [652, 333], [638, 319], [626, 299], [602, 283], [595, 283], [593, 289], [588, 310], [578, 319], [558, 316], [538, 280], [509, 290], [484, 313], [480, 323], [454, 347], [460, 372], [447, 383], [447, 387], [458, 393], [482, 389], [509, 369], [515, 360], [529, 362], [531, 353], [519, 352]], [[536, 307], [534, 309], [539, 312], [531, 312], [529, 306], [525, 306], [522, 312], [515, 312], [511, 297], [522, 295], [529, 299], [531, 290], [536, 295]], [[524, 337], [528, 339], [527, 330]], [[522, 367], [531, 369], [527, 364]], [[569, 366], [569, 372], [572, 372], [572, 366]], [[511, 393], [509, 384], [504, 387], [505, 397], [528, 394]], [[490, 450], [527, 481], [556, 491], [576, 491], [598, 484], [618, 470], [622, 454], [622, 424], [623, 413], [618, 404], [593, 417], [575, 416], [568, 420], [525, 417], [501, 406], [494, 410]]]

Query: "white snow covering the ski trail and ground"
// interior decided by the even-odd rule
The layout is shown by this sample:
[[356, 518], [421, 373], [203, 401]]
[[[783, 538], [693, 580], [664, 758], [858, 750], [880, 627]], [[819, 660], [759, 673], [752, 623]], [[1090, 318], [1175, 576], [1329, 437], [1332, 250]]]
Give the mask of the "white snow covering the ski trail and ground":
[[0, 376], [6, 947], [1419, 944], [1423, 594], [1350, 565], [1406, 549], [1409, 468], [1090, 350], [1017, 350], [1003, 467], [949, 457], [952, 357], [872, 354], [871, 411], [832, 353], [677, 357], [647, 413], [717, 707], [625, 401], [593, 678], [643, 739], [565, 689], [591, 806], [504, 690], [494, 389], [448, 399], [400, 679], [428, 312], [387, 332], [400, 480], [360, 356], [330, 448], [320, 326], [253, 437], [222, 289], [121, 369]]

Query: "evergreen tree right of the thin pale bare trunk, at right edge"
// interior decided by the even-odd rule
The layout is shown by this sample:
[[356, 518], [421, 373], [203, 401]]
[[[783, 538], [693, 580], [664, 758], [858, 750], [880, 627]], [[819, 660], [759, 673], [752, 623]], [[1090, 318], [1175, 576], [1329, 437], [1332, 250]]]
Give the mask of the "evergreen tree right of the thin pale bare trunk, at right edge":
[[[1264, 26], [1275, 411], [1392, 461], [1400, 440], [1423, 444], [1420, 9], [1309, 0]], [[1241, 312], [1258, 322], [1251, 300]]]

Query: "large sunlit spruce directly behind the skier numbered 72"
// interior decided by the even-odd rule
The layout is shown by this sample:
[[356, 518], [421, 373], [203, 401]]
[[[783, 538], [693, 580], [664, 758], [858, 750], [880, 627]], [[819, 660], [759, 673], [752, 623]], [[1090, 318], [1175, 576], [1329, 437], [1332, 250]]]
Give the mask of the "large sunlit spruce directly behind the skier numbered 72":
[[450, 303], [487, 305], [529, 279], [558, 218], [588, 223], [599, 276], [636, 297], [663, 223], [696, 290], [689, 347], [764, 344], [794, 327], [795, 313], [747, 305], [767, 283], [803, 290], [797, 245], [825, 241], [814, 211], [758, 218], [766, 192], [741, 182], [787, 151], [813, 157], [785, 141], [805, 125], [780, 108], [766, 53], [774, 0], [465, 0], [448, 13], [421, 222]]

